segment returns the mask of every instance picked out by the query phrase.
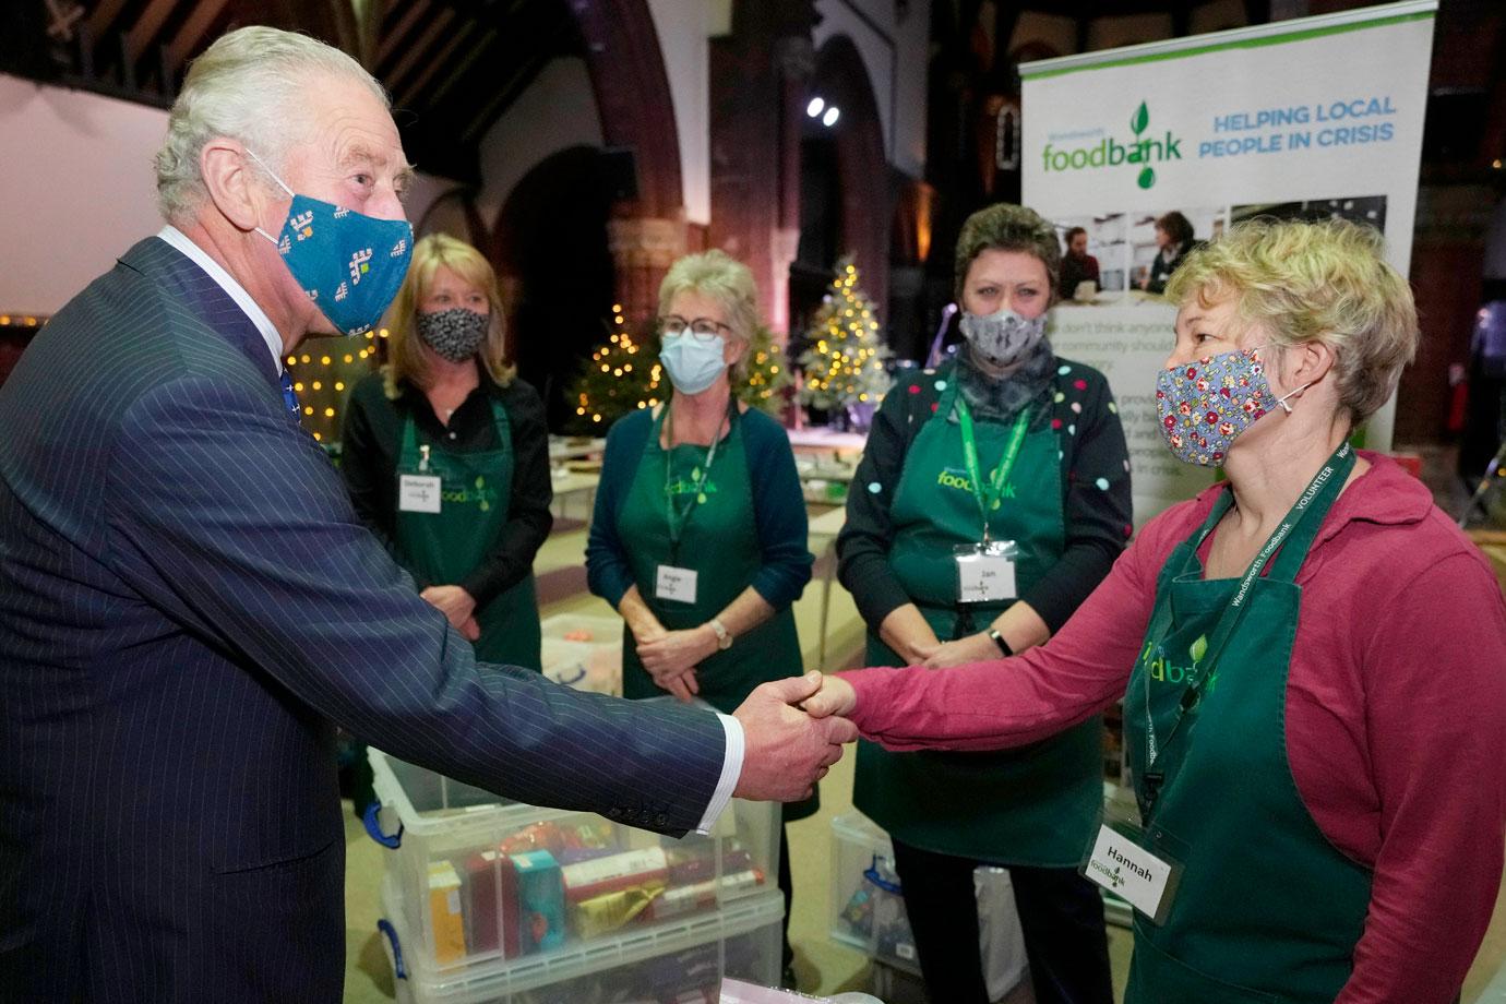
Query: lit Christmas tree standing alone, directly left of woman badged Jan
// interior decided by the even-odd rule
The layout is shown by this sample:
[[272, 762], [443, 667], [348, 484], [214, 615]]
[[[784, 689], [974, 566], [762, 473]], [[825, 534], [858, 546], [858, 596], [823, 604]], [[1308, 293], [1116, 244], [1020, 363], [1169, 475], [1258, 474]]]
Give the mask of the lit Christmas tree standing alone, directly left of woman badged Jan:
[[884, 360], [890, 352], [878, 334], [873, 301], [857, 284], [849, 257], [837, 262], [837, 277], [810, 322], [810, 342], [800, 355], [804, 385], [800, 400], [825, 411], [876, 405], [889, 390]]

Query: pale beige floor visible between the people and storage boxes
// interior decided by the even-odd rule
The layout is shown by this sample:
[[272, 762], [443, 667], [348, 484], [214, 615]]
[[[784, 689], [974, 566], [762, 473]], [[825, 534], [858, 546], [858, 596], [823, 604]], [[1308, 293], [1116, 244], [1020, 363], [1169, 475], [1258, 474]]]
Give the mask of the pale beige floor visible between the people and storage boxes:
[[[551, 536], [539, 554], [541, 602], [544, 614], [608, 613], [607, 607], [584, 593], [578, 572], [584, 546], [583, 528], [563, 528]], [[816, 635], [821, 605], [822, 563], [816, 580], [797, 604], [800, 634], [806, 643], [807, 665], [816, 664]], [[825, 671], [857, 665], [861, 655], [863, 626], [851, 596], [833, 586]], [[870, 990], [873, 974], [866, 957], [827, 936], [831, 869], [831, 819], [851, 811], [852, 759], [833, 768], [822, 783], [821, 811], [791, 825], [795, 902], [791, 912], [791, 941], [795, 947], [795, 974], [806, 993]], [[392, 968], [376, 933], [378, 882], [386, 850], [366, 837], [346, 813], [346, 986], [349, 1004], [380, 1004], [395, 996]], [[1130, 968], [1130, 935], [1110, 927], [1110, 956], [1116, 990], [1122, 995]], [[886, 984], [887, 1004], [925, 1004], [925, 993], [914, 981], [899, 978]], [[1008, 1004], [1027, 1004], [1027, 987], [1018, 987]], [[1497, 903], [1495, 918], [1474, 968], [1464, 986], [1464, 1004], [1506, 1004], [1506, 894]]]

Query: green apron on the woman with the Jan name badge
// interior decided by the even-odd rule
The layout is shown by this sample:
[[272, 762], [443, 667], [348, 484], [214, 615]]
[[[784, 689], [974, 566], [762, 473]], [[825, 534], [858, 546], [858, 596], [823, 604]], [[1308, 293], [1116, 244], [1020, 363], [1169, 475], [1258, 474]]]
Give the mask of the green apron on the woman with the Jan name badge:
[[[956, 400], [956, 379], [950, 379], [935, 415], [910, 444], [890, 507], [895, 540], [889, 566], [941, 641], [986, 629], [1014, 602], [971, 604], [965, 613], [956, 604], [953, 546], [982, 540], [961, 429], [949, 421]], [[982, 470], [997, 470], [1011, 434], [995, 423], [976, 426]], [[992, 539], [1018, 545], [1017, 592], [1060, 560], [1062, 461], [1050, 429], [1024, 437], [988, 527]], [[904, 665], [878, 638], [876, 625], [869, 626], [867, 661]], [[923, 850], [998, 864], [1075, 867], [1102, 807], [1102, 769], [1098, 716], [1000, 753], [889, 753], [864, 741], [858, 744], [852, 804], [893, 837]]]

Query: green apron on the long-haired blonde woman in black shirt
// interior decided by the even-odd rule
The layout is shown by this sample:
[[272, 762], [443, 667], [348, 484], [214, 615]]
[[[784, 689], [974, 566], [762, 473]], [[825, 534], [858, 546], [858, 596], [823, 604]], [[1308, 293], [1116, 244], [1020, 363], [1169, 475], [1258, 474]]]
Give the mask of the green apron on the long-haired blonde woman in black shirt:
[[[434, 474], [440, 477], [440, 512], [398, 512], [398, 560], [420, 580], [434, 586], [455, 586], [474, 570], [482, 555], [497, 545], [508, 524], [512, 498], [512, 424], [497, 399], [491, 400], [497, 444], [491, 450], [455, 453], [443, 443], [422, 437], [413, 415], [402, 426], [402, 452], [398, 476]], [[423, 443], [420, 444], [420, 437]], [[429, 447], [428, 470], [420, 471]], [[521, 583], [476, 608], [480, 638], [476, 658], [482, 662], [542, 667], [539, 653], [539, 602], [530, 570]]]

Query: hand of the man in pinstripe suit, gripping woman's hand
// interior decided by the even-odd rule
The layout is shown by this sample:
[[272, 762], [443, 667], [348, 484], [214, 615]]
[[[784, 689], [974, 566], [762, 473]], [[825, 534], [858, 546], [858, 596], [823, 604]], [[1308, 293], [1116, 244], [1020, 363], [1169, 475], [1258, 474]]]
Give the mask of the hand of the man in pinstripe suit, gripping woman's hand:
[[794, 707], [813, 700], [822, 679], [812, 671], [762, 683], [732, 712], [747, 744], [735, 796], [777, 802], [810, 798], [816, 781], [842, 759], [842, 744], [857, 739], [846, 718], [818, 721]]

